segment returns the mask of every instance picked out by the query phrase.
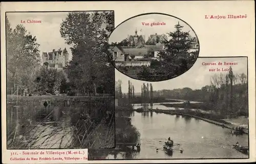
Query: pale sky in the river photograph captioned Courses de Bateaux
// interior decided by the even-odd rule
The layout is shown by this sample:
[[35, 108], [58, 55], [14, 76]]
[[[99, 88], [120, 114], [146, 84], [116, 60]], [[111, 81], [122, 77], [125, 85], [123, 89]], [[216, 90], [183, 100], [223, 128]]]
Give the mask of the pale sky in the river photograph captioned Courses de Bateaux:
[[[205, 66], [202, 65], [202, 63], [216, 63], [216, 66]], [[225, 69], [229, 68], [227, 65], [218, 65], [218, 63], [221, 62], [224, 64], [224, 62], [237, 62], [238, 65], [233, 65], [232, 70], [233, 73], [245, 73], [247, 75], [247, 58], [198, 58], [196, 63], [185, 73], [182, 75], [175, 77], [173, 79], [165, 80], [165, 81], [158, 81], [158, 82], [147, 82], [142, 80], [133, 79], [129, 76], [126, 76], [123, 73], [120, 73], [117, 69], [115, 69], [115, 80], [117, 81], [120, 79], [122, 81], [122, 93], [128, 92], [128, 81], [130, 80], [131, 83], [134, 85], [135, 93], [141, 92], [141, 85], [143, 83], [152, 83], [153, 90], [173, 90], [178, 88], [191, 88], [193, 90], [195, 89], [201, 89], [202, 87], [206, 85], [210, 85], [210, 77], [214, 74], [220, 74], [220, 73], [228, 73], [225, 71], [220, 72], [209, 72], [209, 69]]]

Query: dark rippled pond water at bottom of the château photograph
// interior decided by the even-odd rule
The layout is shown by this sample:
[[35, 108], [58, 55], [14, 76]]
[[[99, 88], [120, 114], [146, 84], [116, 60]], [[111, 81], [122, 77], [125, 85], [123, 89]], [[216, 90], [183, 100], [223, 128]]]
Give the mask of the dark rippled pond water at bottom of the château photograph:
[[[7, 107], [7, 148], [99, 148], [98, 142], [101, 138], [97, 138], [96, 133], [114, 140], [114, 132], [107, 134], [111, 127], [114, 131], [114, 126], [107, 127], [111, 122], [114, 123], [114, 117], [112, 120], [108, 118], [106, 111], [114, 113], [114, 106], [110, 104], [48, 105], [47, 107], [10, 105]], [[94, 142], [96, 138], [97, 142]], [[104, 141], [101, 140], [101, 143], [103, 144]], [[110, 147], [114, 147], [114, 141]]]

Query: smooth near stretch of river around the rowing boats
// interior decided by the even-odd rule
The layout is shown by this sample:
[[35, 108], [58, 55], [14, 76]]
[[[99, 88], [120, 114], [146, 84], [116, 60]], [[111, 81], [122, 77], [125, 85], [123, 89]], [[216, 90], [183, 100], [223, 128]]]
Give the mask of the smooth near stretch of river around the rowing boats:
[[[232, 135], [230, 129], [184, 116], [133, 112], [131, 119], [140, 132], [140, 152], [118, 152], [106, 156], [107, 159], [248, 157], [232, 148], [237, 141], [248, 146], [247, 134]], [[166, 141], [169, 136], [181, 146], [174, 147], [178, 150], [172, 154], [161, 150], [157, 152], [156, 149], [163, 146], [161, 141]], [[184, 150], [183, 153], [180, 153], [180, 149]]]

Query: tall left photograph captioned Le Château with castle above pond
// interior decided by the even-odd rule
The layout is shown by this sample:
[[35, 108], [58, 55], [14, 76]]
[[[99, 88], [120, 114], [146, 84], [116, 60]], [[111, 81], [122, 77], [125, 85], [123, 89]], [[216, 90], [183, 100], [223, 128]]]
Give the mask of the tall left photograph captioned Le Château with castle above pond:
[[7, 149], [115, 147], [114, 11], [6, 12]]

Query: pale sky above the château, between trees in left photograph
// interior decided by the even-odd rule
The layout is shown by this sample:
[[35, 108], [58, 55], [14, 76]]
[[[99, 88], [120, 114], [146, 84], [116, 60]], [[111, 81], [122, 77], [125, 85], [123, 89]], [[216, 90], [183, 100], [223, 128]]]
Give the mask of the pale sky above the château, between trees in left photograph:
[[[60, 36], [60, 23], [68, 15], [68, 12], [42, 12], [42, 13], [7, 13], [11, 28], [23, 24], [32, 36], [36, 36], [37, 43], [40, 44], [40, 55], [42, 52], [50, 52], [53, 49], [67, 48], [72, 58], [70, 46]], [[21, 23], [25, 20], [26, 23]], [[41, 23], [27, 23], [27, 20], [40, 20]]]

